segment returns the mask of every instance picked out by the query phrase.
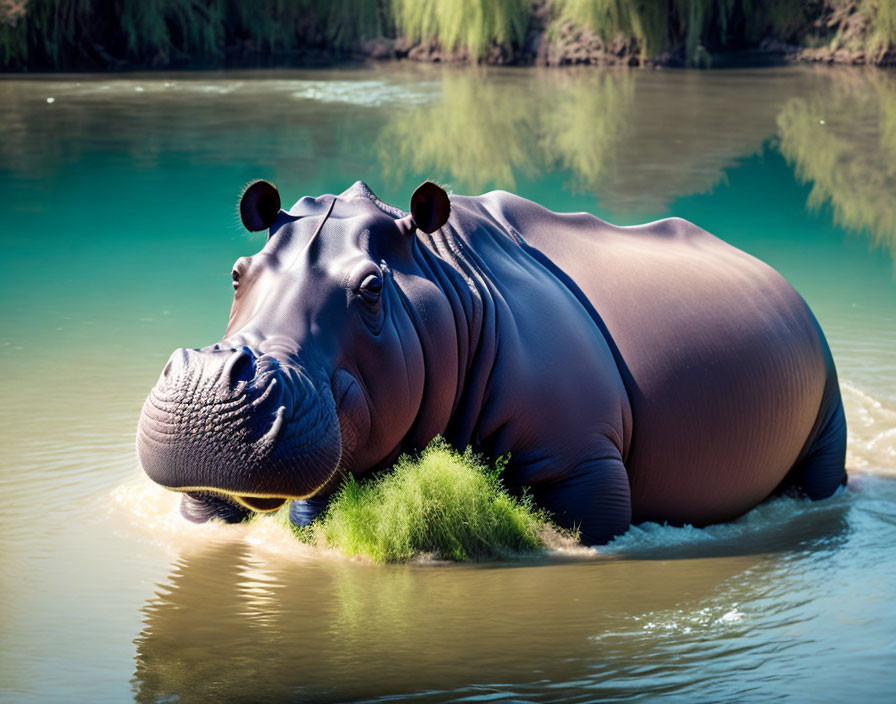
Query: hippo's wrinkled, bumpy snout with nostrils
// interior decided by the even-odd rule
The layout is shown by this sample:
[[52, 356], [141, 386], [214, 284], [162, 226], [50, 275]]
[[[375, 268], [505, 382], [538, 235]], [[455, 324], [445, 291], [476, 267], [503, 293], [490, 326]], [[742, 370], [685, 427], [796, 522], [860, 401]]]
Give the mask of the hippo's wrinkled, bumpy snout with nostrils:
[[179, 349], [143, 406], [143, 469], [178, 491], [231, 495], [255, 510], [313, 495], [341, 437], [328, 379], [249, 347]]

